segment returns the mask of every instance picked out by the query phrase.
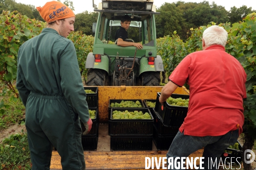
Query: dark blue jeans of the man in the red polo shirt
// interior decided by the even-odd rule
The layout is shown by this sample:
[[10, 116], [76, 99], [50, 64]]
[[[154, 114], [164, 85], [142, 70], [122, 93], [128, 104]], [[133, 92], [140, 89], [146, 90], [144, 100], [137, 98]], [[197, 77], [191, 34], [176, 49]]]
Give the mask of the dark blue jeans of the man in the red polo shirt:
[[[223, 151], [227, 149], [227, 147], [229, 147], [230, 145], [235, 144], [238, 137], [239, 137], [239, 130], [230, 131], [222, 136], [203, 136], [203, 137], [184, 135], [184, 131], [183, 133], [180, 133], [180, 131], [178, 131], [177, 135], [173, 139], [173, 142], [169, 148], [168, 153], [166, 154], [167, 164], [168, 164], [168, 158], [170, 157], [173, 157], [173, 161], [175, 160], [176, 157], [188, 157], [191, 153], [204, 147], [204, 153], [203, 153], [204, 170], [208, 170], [208, 169], [217, 170], [221, 153], [223, 153]], [[215, 166], [213, 166], [213, 164], [212, 165], [209, 164], [209, 168], [208, 168], [208, 158], [210, 161], [209, 163], [211, 163], [211, 159], [213, 163], [217, 159], [217, 163], [215, 163]], [[195, 158], [193, 158], [193, 160], [194, 159]], [[185, 165], [183, 166], [185, 167]], [[173, 168], [174, 170], [176, 170], [174, 165], [173, 165]]]

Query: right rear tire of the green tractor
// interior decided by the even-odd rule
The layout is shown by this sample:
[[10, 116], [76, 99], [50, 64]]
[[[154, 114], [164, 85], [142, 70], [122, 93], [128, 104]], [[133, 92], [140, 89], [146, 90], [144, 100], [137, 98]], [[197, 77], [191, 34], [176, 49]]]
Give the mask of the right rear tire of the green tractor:
[[160, 81], [161, 79], [159, 71], [146, 71], [142, 73], [143, 86], [159, 86]]

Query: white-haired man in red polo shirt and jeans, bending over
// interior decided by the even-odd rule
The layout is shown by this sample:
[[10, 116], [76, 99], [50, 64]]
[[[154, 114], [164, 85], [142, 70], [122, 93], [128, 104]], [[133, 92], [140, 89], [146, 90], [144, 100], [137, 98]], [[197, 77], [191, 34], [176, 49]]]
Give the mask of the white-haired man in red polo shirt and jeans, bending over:
[[[246, 74], [239, 61], [225, 52], [226, 42], [224, 28], [207, 28], [203, 51], [186, 56], [162, 89], [162, 104], [185, 82], [190, 89], [188, 113], [167, 158], [187, 157], [204, 147], [204, 169], [218, 169], [221, 153], [235, 144], [242, 132]], [[211, 160], [217, 164], [213, 166]]]

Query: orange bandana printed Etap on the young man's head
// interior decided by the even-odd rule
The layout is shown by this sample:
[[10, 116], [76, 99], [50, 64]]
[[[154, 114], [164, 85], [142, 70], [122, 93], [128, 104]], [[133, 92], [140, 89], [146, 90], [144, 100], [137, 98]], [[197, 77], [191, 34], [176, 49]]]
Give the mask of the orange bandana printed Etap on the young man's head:
[[47, 23], [64, 18], [76, 17], [68, 6], [58, 1], [47, 2], [43, 7], [36, 7], [36, 9]]

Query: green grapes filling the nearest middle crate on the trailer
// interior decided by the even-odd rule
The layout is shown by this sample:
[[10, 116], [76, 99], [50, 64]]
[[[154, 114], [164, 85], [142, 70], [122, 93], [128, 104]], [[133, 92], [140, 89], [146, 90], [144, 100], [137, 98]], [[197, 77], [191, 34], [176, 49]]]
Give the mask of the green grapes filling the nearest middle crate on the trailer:
[[151, 119], [148, 112], [145, 114], [142, 111], [113, 111], [113, 119]]

